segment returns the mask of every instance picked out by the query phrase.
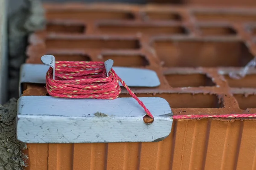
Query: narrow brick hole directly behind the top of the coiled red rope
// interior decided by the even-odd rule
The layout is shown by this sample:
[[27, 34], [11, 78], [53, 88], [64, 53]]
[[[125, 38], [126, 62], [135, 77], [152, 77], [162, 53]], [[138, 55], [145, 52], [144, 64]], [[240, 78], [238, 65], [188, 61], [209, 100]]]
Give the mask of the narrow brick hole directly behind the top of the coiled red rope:
[[86, 54], [50, 54], [55, 57], [56, 61], [91, 61]]

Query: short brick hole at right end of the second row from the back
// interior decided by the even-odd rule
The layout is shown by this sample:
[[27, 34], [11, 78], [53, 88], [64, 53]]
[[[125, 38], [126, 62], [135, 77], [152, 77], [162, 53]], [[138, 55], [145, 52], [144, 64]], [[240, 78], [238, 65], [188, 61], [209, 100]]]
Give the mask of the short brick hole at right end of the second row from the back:
[[236, 35], [235, 29], [231, 27], [200, 27], [203, 36], [210, 35]]

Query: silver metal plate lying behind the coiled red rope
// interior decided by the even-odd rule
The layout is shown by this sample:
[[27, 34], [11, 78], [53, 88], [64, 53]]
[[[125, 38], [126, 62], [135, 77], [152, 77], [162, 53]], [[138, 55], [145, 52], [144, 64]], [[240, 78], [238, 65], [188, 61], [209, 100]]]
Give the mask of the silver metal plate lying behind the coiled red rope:
[[[20, 68], [20, 96], [22, 83], [45, 84], [45, 76], [49, 66], [43, 64], [23, 64]], [[157, 87], [160, 80], [155, 71], [142, 68], [113, 67], [116, 74], [129, 87]], [[119, 82], [119, 85], [122, 84]]]

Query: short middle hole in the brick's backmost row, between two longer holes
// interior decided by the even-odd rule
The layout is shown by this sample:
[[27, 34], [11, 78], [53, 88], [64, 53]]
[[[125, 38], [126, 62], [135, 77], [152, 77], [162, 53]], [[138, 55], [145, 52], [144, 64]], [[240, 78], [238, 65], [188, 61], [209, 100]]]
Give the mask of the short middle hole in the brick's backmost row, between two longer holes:
[[182, 17], [177, 12], [146, 12], [145, 20], [174, 20], [181, 21]]

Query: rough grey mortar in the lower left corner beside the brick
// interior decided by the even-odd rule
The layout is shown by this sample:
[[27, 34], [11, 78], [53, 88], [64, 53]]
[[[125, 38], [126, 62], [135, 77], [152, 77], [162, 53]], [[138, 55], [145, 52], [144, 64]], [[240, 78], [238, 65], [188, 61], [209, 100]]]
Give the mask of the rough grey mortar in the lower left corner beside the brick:
[[0, 170], [23, 170], [27, 156], [21, 150], [26, 144], [16, 138], [16, 99], [0, 105]]

